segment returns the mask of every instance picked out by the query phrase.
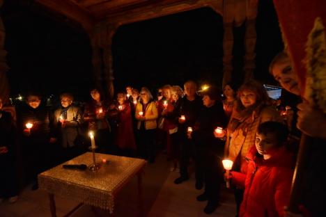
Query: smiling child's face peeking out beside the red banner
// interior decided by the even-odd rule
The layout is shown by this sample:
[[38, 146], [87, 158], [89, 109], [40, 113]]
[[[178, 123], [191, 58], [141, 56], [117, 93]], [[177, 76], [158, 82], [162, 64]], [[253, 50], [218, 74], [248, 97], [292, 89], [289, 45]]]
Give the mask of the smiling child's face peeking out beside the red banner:
[[292, 69], [290, 58], [285, 58], [274, 64], [272, 74], [275, 80], [279, 81], [281, 86], [288, 92], [300, 95], [300, 86], [297, 74]]

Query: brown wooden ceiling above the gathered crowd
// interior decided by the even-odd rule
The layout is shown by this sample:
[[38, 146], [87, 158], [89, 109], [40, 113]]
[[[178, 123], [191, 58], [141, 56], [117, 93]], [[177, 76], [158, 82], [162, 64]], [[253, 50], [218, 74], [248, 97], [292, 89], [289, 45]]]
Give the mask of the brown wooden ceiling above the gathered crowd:
[[36, 0], [73, 19], [86, 31], [99, 22], [120, 26], [208, 6], [222, 15], [223, 0]]

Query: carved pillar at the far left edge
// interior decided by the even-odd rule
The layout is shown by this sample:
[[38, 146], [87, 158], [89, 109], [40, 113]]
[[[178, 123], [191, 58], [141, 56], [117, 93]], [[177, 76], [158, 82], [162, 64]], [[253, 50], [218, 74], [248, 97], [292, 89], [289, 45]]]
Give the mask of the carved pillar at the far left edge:
[[[0, 7], [2, 6], [2, 3], [3, 1], [0, 0]], [[9, 70], [9, 67], [6, 63], [7, 51], [4, 49], [5, 38], [6, 30], [0, 17], [0, 97], [3, 104], [7, 104], [9, 102], [9, 83], [6, 76], [6, 72]]]

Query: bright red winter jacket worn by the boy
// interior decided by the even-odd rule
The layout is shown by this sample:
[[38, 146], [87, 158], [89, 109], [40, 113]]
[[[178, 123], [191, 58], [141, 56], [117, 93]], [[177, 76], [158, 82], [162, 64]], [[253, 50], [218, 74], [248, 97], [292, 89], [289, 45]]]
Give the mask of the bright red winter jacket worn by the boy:
[[232, 183], [244, 186], [240, 216], [283, 216], [290, 198], [293, 154], [281, 148], [264, 160], [252, 149], [247, 155], [247, 175], [232, 172]]

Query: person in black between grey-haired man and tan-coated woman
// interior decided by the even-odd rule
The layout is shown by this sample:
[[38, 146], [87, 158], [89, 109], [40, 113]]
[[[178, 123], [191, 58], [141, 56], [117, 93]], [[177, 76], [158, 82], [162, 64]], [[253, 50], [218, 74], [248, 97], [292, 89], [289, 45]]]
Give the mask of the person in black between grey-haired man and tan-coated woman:
[[204, 177], [204, 192], [196, 199], [207, 200], [204, 209], [206, 214], [212, 214], [219, 204], [219, 187], [222, 183], [221, 159], [224, 151], [222, 140], [215, 138], [213, 131], [217, 127], [226, 127], [227, 117], [219, 88], [210, 86], [201, 92], [204, 108], [194, 124], [193, 131], [188, 133], [194, 140], [198, 161], [196, 166], [197, 176]]

